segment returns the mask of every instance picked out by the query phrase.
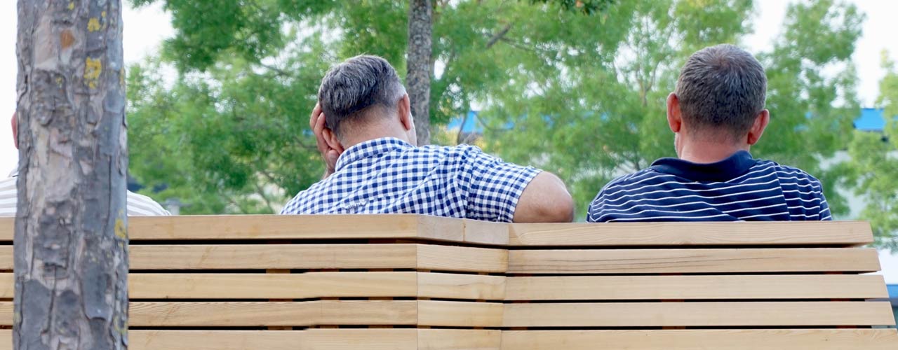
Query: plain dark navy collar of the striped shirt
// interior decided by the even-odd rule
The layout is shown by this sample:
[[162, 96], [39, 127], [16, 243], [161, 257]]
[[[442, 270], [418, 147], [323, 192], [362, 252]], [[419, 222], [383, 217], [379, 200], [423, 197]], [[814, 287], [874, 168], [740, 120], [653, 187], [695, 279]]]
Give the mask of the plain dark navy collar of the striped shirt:
[[747, 150], [740, 150], [729, 158], [709, 164], [692, 163], [679, 158], [661, 158], [652, 163], [652, 169], [695, 182], [725, 182], [744, 175], [757, 162]]

